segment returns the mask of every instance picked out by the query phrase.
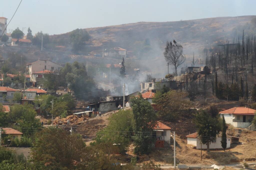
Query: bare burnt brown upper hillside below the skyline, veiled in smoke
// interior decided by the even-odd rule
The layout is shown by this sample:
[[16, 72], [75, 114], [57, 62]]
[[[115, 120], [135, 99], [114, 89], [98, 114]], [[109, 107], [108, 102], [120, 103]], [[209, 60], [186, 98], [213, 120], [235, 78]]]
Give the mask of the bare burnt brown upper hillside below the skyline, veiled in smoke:
[[[154, 50], [163, 51], [166, 41], [175, 39], [182, 43], [184, 52], [200, 54], [206, 45], [233, 38], [233, 28], [250, 22], [255, 16], [217, 17], [173, 22], [137, 22], [98, 28], [87, 28], [91, 35], [89, 44], [95, 47], [120, 46], [133, 50], [136, 41], [150, 39]], [[57, 40], [68, 35], [52, 35]]]

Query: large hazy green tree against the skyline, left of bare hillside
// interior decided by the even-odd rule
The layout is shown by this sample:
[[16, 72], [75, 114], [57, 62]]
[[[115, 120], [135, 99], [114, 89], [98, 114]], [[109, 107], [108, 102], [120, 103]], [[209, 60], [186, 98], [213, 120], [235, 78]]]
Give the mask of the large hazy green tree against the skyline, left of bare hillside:
[[77, 53], [82, 49], [82, 45], [90, 39], [90, 35], [86, 30], [76, 29], [70, 34], [70, 42], [72, 45], [72, 51]]

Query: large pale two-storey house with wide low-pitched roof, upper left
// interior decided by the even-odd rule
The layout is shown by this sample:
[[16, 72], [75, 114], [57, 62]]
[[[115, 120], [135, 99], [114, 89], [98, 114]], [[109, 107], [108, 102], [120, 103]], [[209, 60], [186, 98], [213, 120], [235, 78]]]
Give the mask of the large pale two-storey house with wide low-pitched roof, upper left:
[[27, 68], [29, 70], [29, 75], [32, 76], [33, 73], [44, 71], [44, 70], [49, 70], [49, 71], [60, 70], [62, 66], [58, 63], [55, 63], [49, 60], [40, 60], [39, 58], [38, 61], [28, 64]]

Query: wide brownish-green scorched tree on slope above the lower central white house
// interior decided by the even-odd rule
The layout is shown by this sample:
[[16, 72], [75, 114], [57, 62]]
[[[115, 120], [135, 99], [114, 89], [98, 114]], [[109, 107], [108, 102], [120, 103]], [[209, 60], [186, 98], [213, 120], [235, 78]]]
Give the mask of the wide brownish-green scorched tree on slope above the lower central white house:
[[175, 121], [182, 116], [188, 117], [191, 103], [185, 99], [186, 97], [187, 93], [176, 93], [175, 90], [167, 93], [157, 91], [153, 102], [159, 104], [158, 118], [165, 121]]

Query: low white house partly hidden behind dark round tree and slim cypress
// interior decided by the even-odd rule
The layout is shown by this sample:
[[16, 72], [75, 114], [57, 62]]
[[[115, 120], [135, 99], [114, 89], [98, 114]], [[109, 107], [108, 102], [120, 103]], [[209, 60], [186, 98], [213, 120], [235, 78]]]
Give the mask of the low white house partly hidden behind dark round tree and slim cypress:
[[[210, 149], [221, 149], [221, 135], [222, 133], [220, 132], [217, 136], [214, 142], [210, 143]], [[187, 135], [187, 144], [188, 145], [193, 145], [196, 146], [196, 149], [201, 149], [201, 139], [197, 135], [197, 132], [192, 133], [190, 135]], [[230, 143], [231, 143], [232, 136], [227, 135], [227, 148], [230, 148]], [[202, 149], [207, 149], [207, 145], [202, 144]]]

